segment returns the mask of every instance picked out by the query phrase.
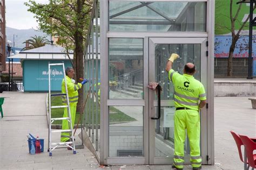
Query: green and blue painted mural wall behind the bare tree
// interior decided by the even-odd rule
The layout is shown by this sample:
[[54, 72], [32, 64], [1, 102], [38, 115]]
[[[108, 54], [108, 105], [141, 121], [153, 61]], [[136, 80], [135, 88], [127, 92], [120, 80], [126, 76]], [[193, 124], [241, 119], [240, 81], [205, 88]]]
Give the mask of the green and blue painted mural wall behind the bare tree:
[[[239, 5], [237, 1], [233, 2], [233, 16], [238, 11]], [[235, 23], [235, 30], [239, 30], [242, 23], [245, 22], [250, 12], [250, 4], [242, 4], [239, 12], [237, 22]], [[254, 10], [254, 17], [256, 17], [256, 10]], [[221, 24], [220, 24], [221, 23]], [[229, 48], [232, 42], [231, 36], [231, 21], [230, 21], [230, 0], [215, 0], [215, 58], [228, 58]], [[237, 41], [234, 51], [234, 58], [248, 58], [248, 23], [242, 31], [240, 39]], [[256, 28], [254, 27], [253, 36], [253, 76], [256, 76]]]

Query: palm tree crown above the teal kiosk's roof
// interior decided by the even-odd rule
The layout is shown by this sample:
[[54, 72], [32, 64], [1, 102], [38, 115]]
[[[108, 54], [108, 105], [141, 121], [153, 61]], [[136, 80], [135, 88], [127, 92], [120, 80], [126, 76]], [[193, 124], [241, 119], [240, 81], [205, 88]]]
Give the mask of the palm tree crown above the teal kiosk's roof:
[[41, 37], [41, 36], [36, 36], [35, 37], [30, 37], [31, 39], [26, 40], [23, 42], [23, 44], [28, 43], [28, 47], [24, 47], [22, 51], [28, 50], [28, 49], [33, 49], [33, 48], [38, 48], [38, 47], [43, 47], [46, 44], [50, 44], [50, 41], [46, 39], [46, 37]]

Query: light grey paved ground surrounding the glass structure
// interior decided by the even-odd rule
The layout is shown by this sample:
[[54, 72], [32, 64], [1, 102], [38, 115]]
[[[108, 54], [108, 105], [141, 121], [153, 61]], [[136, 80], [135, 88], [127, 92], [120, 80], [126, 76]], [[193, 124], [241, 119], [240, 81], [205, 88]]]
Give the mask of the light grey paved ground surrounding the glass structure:
[[[99, 164], [85, 147], [72, 154], [65, 148], [53, 151], [49, 157], [48, 125], [46, 119], [45, 93], [3, 93], [4, 118], [0, 119], [0, 169], [171, 169], [171, 165], [105, 166]], [[256, 137], [256, 114], [248, 97], [215, 97], [215, 165], [203, 169], [243, 169], [237, 146], [230, 134]], [[29, 154], [26, 134], [44, 138], [44, 152]], [[79, 134], [79, 132], [77, 133]], [[59, 140], [59, 134], [52, 137]], [[79, 143], [79, 137], [76, 137]], [[4, 154], [3, 154], [4, 153]], [[184, 169], [192, 169], [186, 165]]]

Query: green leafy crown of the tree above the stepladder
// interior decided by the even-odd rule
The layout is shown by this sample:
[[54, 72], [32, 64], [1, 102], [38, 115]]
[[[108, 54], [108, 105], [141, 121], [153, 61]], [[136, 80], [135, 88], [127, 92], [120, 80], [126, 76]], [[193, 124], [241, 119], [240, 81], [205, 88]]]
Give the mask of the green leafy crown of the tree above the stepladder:
[[73, 50], [78, 39], [84, 44], [92, 0], [49, 0], [48, 4], [29, 0], [24, 4], [28, 6], [28, 11], [35, 14], [40, 30], [59, 37], [59, 45]]

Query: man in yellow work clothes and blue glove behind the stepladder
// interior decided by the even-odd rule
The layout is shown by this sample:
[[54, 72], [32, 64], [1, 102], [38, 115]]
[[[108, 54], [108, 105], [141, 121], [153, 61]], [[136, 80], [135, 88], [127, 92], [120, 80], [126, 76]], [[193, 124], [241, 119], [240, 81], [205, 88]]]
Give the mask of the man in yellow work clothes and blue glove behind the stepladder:
[[[75, 75], [74, 69], [72, 67], [67, 67], [65, 69], [66, 74], [66, 86], [68, 87], [68, 95], [69, 95], [69, 105], [70, 105], [70, 114], [71, 114], [71, 120], [72, 120], [72, 127], [75, 124], [75, 118], [76, 118], [76, 110], [77, 110], [77, 102], [78, 102], [78, 91], [80, 88], [82, 88], [82, 85], [84, 85], [87, 80], [84, 79], [81, 83], [75, 84], [75, 80], [73, 80], [73, 77]], [[66, 87], [65, 87], [65, 80], [62, 80], [62, 94], [66, 94]], [[63, 105], [67, 105], [66, 96], [62, 96], [62, 103]], [[63, 117], [68, 117], [68, 109], [64, 108], [64, 114]], [[62, 121], [62, 129], [70, 129], [69, 122], [67, 120]], [[62, 132], [60, 136], [60, 141], [70, 141], [70, 134], [69, 132]], [[68, 147], [69, 149], [69, 147]]]

